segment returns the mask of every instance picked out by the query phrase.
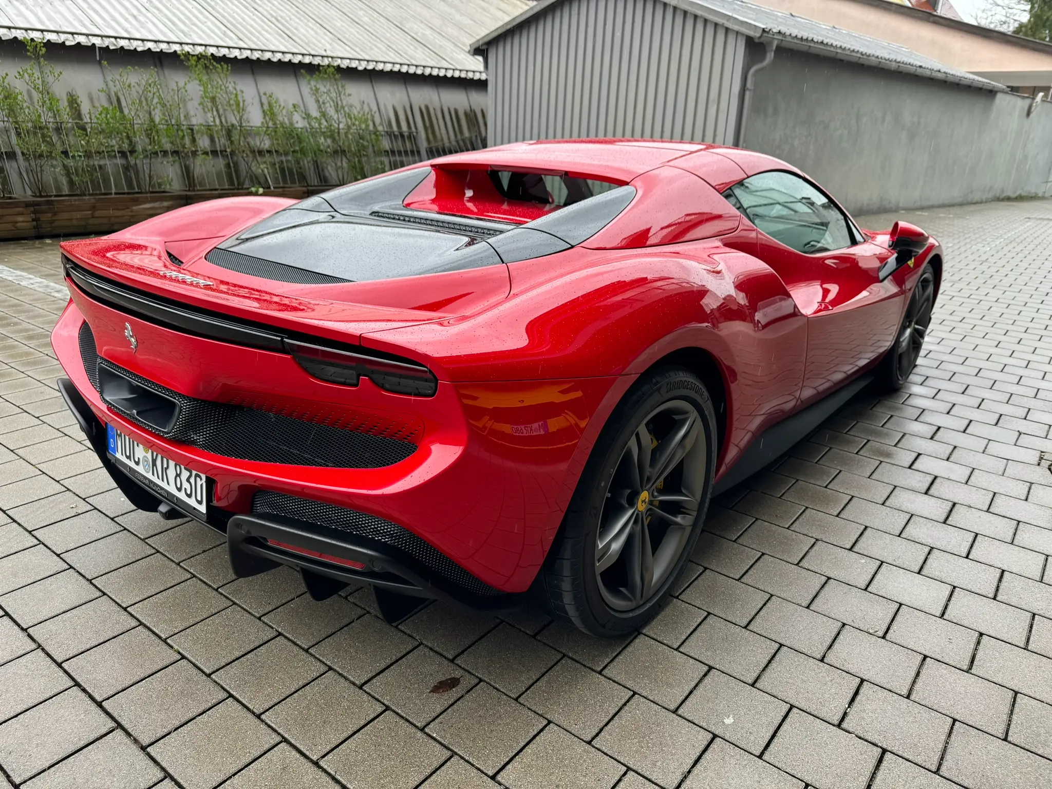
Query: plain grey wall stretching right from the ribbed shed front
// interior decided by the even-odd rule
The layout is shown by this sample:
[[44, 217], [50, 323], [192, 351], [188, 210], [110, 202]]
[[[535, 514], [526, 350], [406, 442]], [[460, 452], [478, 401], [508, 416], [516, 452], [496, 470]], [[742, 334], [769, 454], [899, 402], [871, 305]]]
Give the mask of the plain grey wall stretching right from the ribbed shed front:
[[[752, 57], [756, 57], [753, 52]], [[852, 213], [1047, 196], [1052, 104], [780, 47], [744, 147], [808, 173]]]

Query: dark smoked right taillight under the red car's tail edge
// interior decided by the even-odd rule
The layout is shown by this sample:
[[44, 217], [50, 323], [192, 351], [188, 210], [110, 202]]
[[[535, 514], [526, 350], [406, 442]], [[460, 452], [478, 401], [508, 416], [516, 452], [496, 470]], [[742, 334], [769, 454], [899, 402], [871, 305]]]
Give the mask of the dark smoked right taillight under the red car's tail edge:
[[284, 342], [297, 363], [322, 381], [358, 386], [359, 379], [367, 378], [386, 391], [422, 398], [433, 397], [439, 389], [439, 381], [434, 378], [434, 373], [421, 364], [369, 357], [296, 340]]

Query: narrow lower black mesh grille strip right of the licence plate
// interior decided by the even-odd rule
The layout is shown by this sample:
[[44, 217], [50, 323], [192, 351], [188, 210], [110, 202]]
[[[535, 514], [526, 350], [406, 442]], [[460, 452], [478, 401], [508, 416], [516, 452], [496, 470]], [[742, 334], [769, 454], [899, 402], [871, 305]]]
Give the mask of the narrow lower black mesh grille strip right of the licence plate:
[[426, 540], [417, 537], [398, 524], [385, 521], [383, 518], [310, 499], [276, 493], [271, 490], [260, 490], [252, 497], [252, 512], [295, 518], [299, 521], [317, 523], [346, 531], [357, 537], [369, 538], [405, 551], [443, 578], [470, 592], [483, 596], [504, 593], [477, 579]]

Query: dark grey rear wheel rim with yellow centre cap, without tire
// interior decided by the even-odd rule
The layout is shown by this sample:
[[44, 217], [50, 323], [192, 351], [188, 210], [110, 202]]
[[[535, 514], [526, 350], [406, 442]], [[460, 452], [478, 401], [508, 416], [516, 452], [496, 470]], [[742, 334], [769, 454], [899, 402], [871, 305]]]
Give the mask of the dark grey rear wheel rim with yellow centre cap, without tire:
[[685, 400], [663, 403], [636, 427], [595, 533], [595, 578], [610, 608], [634, 610], [663, 589], [697, 520], [708, 462], [702, 416]]

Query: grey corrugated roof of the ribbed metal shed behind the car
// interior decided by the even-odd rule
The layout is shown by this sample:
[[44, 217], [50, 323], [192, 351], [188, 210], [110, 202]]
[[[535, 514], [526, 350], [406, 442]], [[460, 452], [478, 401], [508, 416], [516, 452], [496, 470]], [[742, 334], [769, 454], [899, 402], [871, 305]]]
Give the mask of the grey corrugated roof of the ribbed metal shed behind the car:
[[[513, 19], [490, 31], [471, 44], [478, 52], [485, 45], [527, 19], [563, 0], [542, 0]], [[816, 52], [827, 57], [866, 63], [878, 68], [906, 72], [922, 77], [955, 82], [986, 90], [1006, 90], [1004, 85], [976, 77], [974, 74], [926, 58], [899, 44], [863, 36], [859, 33], [816, 22], [813, 19], [786, 14], [745, 0], [660, 0], [700, 17], [712, 20], [752, 38], [776, 39], [794, 49]]]

